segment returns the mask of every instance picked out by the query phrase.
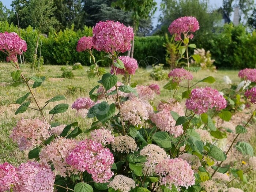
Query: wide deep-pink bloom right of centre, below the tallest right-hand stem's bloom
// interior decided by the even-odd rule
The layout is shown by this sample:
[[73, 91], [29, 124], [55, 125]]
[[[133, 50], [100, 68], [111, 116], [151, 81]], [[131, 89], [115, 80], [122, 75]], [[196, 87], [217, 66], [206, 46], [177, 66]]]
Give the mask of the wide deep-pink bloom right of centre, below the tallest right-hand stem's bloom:
[[226, 108], [227, 101], [219, 94], [218, 90], [205, 87], [193, 89], [185, 105], [195, 114], [202, 114], [206, 113], [208, 109], [215, 108], [219, 111]]

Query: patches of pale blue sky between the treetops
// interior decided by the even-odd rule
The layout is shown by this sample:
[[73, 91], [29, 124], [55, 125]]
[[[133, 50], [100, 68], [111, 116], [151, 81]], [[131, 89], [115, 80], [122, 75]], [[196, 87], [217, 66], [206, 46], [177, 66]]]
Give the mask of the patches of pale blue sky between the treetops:
[[[12, 0], [0, 0], [8, 9], [11, 9], [11, 2]], [[161, 15], [161, 12], [159, 11], [161, 0], [156, 0], [158, 9], [155, 12], [154, 19], [153, 19], [153, 26], [157, 26], [158, 24], [158, 16]], [[219, 8], [222, 6], [222, 0], [210, 0], [210, 6], [212, 8]]]

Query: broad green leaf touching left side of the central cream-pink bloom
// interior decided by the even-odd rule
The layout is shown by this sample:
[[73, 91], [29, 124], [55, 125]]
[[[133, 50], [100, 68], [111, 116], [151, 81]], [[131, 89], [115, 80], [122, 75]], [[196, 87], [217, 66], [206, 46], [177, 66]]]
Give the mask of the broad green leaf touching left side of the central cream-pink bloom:
[[[95, 106], [95, 105], [94, 105]], [[101, 123], [106, 123], [110, 117], [114, 115], [116, 112], [116, 106], [115, 103], [112, 103], [108, 105], [107, 102], [105, 103], [99, 103], [98, 108], [97, 108], [97, 113], [96, 117]]]

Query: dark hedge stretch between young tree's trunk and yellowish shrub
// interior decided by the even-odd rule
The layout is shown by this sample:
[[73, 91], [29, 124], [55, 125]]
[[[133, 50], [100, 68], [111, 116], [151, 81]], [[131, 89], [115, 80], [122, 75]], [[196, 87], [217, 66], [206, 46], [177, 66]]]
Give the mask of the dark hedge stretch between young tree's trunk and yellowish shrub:
[[166, 50], [163, 47], [165, 39], [159, 36], [135, 37], [133, 58], [138, 61], [139, 67], [165, 63]]

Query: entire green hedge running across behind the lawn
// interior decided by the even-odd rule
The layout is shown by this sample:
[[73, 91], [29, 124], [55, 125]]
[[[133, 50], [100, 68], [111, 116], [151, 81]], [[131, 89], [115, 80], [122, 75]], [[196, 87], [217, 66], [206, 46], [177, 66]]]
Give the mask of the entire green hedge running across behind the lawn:
[[[9, 25], [8, 22], [0, 22], [0, 32], [16, 32], [19, 30], [16, 26]], [[27, 42], [27, 52], [24, 53], [27, 62], [32, 62], [34, 57], [35, 42], [37, 31], [32, 27], [20, 30], [21, 37]], [[73, 65], [74, 63], [82, 63], [90, 65], [89, 53], [76, 52], [78, 39], [83, 36], [91, 36], [92, 29], [84, 27], [83, 30], [74, 31], [65, 29], [64, 31], [50, 32], [48, 38], [41, 35], [40, 45], [42, 41], [41, 56], [44, 57], [45, 64], [55, 65]], [[166, 65], [166, 50], [163, 47], [164, 37], [135, 37], [133, 57], [138, 61], [140, 67], [162, 63]], [[233, 25], [224, 25], [221, 31], [214, 33], [206, 41], [202, 42], [205, 50], [210, 50], [212, 59], [215, 59], [215, 65], [218, 68], [242, 69], [255, 68], [256, 64], [256, 32], [247, 33], [245, 27]], [[126, 53], [124, 53], [126, 54]], [[105, 56], [104, 52], [94, 51], [95, 58], [101, 59]], [[5, 61], [6, 55], [0, 52], [0, 60]], [[101, 66], [109, 66], [109, 61], [105, 59], [99, 63]]]

